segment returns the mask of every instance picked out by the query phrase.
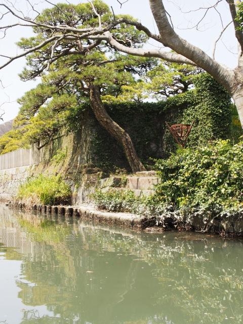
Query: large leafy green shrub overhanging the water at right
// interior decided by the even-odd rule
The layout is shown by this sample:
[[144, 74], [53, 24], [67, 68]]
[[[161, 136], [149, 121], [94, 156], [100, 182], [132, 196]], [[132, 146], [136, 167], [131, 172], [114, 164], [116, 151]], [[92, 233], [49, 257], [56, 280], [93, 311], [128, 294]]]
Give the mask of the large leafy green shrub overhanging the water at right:
[[154, 199], [175, 210], [215, 215], [243, 209], [243, 142], [219, 140], [197, 149], [180, 149], [156, 167], [161, 183]]

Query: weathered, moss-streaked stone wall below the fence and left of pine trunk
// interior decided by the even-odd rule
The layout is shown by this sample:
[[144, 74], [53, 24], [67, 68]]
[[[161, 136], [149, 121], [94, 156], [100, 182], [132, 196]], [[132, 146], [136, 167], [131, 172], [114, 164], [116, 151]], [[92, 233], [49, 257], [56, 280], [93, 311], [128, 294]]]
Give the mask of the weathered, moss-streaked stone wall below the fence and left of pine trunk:
[[[41, 164], [0, 170], [0, 201], [12, 201], [19, 186], [28, 178], [58, 175], [71, 186], [72, 204], [89, 202], [89, 194], [98, 185], [99, 169], [91, 168], [92, 119], [84, 116], [78, 131], [60, 134], [45, 147]], [[88, 173], [88, 174], [87, 174]]]

